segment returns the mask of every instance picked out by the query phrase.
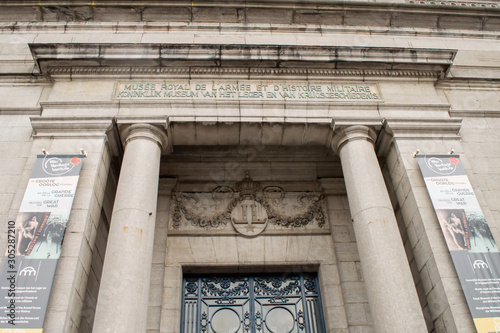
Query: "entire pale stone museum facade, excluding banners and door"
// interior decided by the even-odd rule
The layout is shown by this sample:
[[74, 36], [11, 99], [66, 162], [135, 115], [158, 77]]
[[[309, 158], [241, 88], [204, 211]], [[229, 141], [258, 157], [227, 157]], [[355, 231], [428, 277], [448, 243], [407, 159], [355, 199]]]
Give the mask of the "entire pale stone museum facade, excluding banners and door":
[[414, 153], [499, 240], [499, 6], [2, 1], [2, 223], [87, 152], [44, 332], [187, 332], [214, 273], [317, 274], [326, 332], [475, 332]]

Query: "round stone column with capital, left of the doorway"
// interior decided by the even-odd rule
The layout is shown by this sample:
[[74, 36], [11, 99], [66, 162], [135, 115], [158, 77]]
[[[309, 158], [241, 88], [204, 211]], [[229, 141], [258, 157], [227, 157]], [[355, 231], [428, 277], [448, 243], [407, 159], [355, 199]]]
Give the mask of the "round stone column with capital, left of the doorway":
[[94, 333], [146, 331], [156, 202], [167, 136], [150, 124], [125, 125], [125, 152], [97, 299]]

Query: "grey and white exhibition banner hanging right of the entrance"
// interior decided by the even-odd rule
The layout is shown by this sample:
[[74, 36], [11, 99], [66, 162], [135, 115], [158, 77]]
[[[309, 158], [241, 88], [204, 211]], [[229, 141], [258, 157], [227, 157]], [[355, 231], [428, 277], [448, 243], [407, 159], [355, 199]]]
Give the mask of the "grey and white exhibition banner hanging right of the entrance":
[[417, 159], [476, 329], [500, 332], [500, 253], [460, 157]]

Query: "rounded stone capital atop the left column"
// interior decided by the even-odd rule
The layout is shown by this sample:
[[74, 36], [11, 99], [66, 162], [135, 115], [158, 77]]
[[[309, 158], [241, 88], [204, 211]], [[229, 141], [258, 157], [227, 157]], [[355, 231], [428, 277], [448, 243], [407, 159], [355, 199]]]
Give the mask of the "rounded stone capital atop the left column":
[[[165, 124], [166, 125], [166, 124]], [[168, 136], [165, 126], [149, 123], [122, 123], [118, 125], [123, 146], [136, 139], [143, 139], [155, 142], [165, 151], [168, 146]]]

